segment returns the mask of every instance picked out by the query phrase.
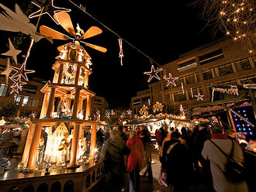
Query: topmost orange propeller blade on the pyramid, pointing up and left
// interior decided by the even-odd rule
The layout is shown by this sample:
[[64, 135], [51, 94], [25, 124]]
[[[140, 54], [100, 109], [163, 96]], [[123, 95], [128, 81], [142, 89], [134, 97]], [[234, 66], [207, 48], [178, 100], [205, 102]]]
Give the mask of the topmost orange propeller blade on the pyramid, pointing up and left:
[[54, 14], [54, 19], [59, 20], [61, 26], [69, 33], [71, 36], [75, 36], [74, 26], [71, 22], [71, 17], [67, 12], [57, 12]]

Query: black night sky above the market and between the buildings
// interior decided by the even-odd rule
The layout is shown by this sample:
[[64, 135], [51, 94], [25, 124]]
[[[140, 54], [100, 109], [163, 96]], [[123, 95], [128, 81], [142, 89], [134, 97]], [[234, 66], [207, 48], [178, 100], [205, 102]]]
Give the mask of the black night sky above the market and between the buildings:
[[[10, 3], [10, 1], [2, 3], [6, 5], [5, 2]], [[14, 5], [13, 2], [19, 4], [22, 1], [12, 1]], [[84, 5], [89, 14], [161, 65], [176, 60], [180, 54], [209, 43], [213, 39], [206, 30], [199, 33], [205, 22], [199, 17], [199, 9], [190, 5], [192, 0], [171, 1], [171, 3], [161, 0], [152, 2], [73, 0], [73, 2]], [[119, 61], [118, 37], [115, 34], [68, 0], [55, 0], [55, 5], [72, 9], [70, 15], [74, 27], [79, 23], [81, 29], [85, 31], [90, 26], [98, 26], [102, 29], [101, 35], [91, 37], [86, 42], [106, 47], [107, 53], [84, 46], [93, 63], [93, 73], [89, 77], [90, 89], [97, 95], [105, 97], [109, 108], [130, 107], [130, 99], [136, 96], [136, 92], [147, 88], [148, 76], [144, 72], [150, 71], [150, 60], [123, 42], [122, 67]], [[10, 8], [13, 9], [12, 6]], [[36, 20], [30, 19], [34, 24]], [[50, 26], [67, 34], [47, 15], [42, 16], [40, 25]], [[1, 46], [5, 46], [7, 36], [2, 36], [1, 40]], [[54, 44], [50, 44], [45, 39], [36, 43], [27, 63], [29, 69], [36, 70], [36, 74], [31, 74], [29, 77], [32, 75], [44, 79], [53, 77], [54, 71], [51, 70], [51, 66], [58, 55], [56, 48], [64, 43], [67, 42], [54, 40]], [[29, 43], [26, 47], [28, 46]], [[27, 48], [24, 48], [25, 51]], [[154, 67], [157, 65], [154, 64]]]

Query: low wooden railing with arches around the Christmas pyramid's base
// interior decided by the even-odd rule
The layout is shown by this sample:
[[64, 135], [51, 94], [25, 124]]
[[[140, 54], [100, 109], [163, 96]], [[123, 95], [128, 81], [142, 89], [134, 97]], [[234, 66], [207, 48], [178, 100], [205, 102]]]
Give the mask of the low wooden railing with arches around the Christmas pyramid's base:
[[69, 170], [68, 173], [43, 174], [36, 176], [25, 173], [23, 177], [1, 180], [0, 192], [87, 192], [102, 179], [102, 163], [91, 162], [89, 166], [80, 167], [73, 173]]

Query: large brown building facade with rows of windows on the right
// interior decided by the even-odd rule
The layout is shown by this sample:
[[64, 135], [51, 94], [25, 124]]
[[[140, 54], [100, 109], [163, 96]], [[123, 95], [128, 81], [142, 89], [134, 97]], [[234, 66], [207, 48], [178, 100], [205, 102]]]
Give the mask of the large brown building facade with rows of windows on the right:
[[[223, 94], [212, 99], [213, 86], [256, 83], [256, 55], [247, 53], [242, 46], [230, 39], [201, 46], [180, 56], [178, 60], [161, 66], [161, 81], [149, 84], [149, 89], [137, 92], [131, 100], [131, 108], [137, 113], [145, 98], [150, 102], [183, 106], [198, 105], [207, 101], [228, 100], [237, 95]], [[167, 85], [164, 77], [178, 77], [174, 84]], [[203, 95], [198, 99], [195, 95]], [[147, 100], [147, 99], [146, 99]]]

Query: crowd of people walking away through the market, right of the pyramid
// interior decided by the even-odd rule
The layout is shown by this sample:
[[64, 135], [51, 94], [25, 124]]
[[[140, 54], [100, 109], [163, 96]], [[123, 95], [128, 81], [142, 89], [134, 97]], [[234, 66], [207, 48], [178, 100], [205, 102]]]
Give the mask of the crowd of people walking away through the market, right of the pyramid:
[[[200, 124], [180, 131], [161, 127], [155, 137], [161, 162], [160, 184], [164, 180], [170, 191], [248, 191], [242, 173], [235, 174], [239, 178], [235, 181], [227, 174], [231, 169], [227, 168], [229, 159], [240, 167], [244, 163], [243, 149], [234, 132], [224, 133], [220, 125]], [[101, 142], [100, 153], [106, 191], [122, 191], [127, 172], [130, 192], [139, 191], [143, 167], [147, 176], [144, 182], [153, 182], [150, 142], [150, 132], [144, 125], [131, 130], [129, 138], [121, 125], [110, 129], [109, 138]]]

